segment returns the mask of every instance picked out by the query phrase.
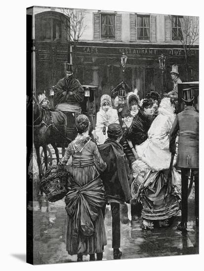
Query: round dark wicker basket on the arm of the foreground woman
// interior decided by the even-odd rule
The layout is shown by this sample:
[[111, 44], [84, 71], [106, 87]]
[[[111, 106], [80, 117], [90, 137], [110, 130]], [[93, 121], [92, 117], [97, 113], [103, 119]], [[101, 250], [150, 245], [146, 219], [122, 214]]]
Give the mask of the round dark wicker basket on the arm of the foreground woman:
[[44, 192], [49, 202], [56, 202], [64, 198], [68, 192], [68, 187], [74, 177], [67, 170], [57, 170], [56, 166], [51, 166], [44, 173], [40, 188]]

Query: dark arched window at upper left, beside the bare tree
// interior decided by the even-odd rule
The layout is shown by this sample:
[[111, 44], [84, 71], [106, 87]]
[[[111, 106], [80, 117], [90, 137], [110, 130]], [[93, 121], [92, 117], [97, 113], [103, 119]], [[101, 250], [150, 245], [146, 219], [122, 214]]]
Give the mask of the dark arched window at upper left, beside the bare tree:
[[60, 20], [47, 18], [43, 20], [43, 40], [60, 40], [62, 35], [62, 24]]

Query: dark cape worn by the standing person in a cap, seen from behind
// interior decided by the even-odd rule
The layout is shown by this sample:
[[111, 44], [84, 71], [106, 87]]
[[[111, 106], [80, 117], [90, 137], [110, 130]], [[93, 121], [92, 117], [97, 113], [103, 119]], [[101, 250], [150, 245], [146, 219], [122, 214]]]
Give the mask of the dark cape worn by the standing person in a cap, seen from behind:
[[98, 146], [98, 149], [107, 164], [107, 168], [101, 173], [101, 179], [108, 200], [129, 202], [131, 199], [129, 169], [122, 146], [108, 138], [104, 144]]

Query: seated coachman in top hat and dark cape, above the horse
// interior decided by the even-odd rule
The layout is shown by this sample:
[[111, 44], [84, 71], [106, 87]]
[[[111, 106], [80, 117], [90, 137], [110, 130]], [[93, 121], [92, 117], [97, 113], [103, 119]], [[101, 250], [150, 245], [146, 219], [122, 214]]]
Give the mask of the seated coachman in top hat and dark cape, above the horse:
[[67, 64], [65, 77], [60, 79], [54, 89], [54, 105], [71, 103], [81, 107], [84, 99], [84, 90], [80, 82], [73, 76], [72, 64]]

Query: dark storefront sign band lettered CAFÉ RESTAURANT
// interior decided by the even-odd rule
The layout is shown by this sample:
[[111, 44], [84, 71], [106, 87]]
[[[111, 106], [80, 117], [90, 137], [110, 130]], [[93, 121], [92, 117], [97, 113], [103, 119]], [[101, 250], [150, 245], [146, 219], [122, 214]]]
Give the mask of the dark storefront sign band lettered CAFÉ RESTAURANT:
[[[159, 56], [162, 53], [166, 56], [184, 56], [183, 49], [158, 49], [158, 48], [120, 48], [120, 47], [85, 47], [78, 46], [77, 53], [83, 53], [86, 55], [122, 55], [126, 54], [127, 56], [134, 55], [146, 55], [146, 56]], [[192, 49], [191, 55], [198, 55], [198, 50]]]

